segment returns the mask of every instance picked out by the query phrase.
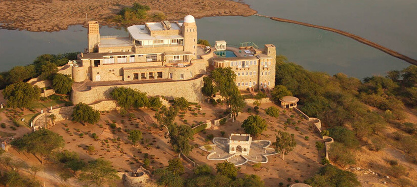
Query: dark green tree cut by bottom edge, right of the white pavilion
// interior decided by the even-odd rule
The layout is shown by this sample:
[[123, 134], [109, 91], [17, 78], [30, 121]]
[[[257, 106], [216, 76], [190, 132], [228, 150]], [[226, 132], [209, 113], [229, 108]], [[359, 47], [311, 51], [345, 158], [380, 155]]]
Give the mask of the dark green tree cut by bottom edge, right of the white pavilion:
[[326, 165], [320, 168], [319, 172], [313, 177], [307, 179], [305, 183], [311, 186], [360, 186], [360, 182], [356, 175], [350, 171], [345, 171], [336, 166]]

